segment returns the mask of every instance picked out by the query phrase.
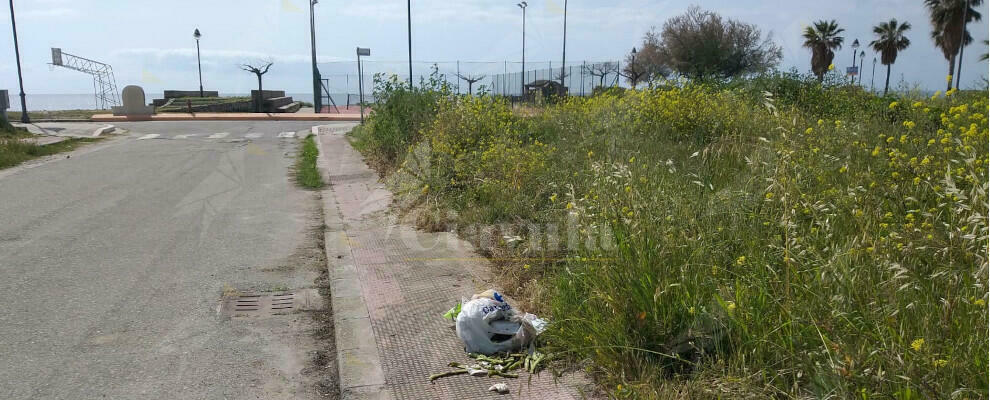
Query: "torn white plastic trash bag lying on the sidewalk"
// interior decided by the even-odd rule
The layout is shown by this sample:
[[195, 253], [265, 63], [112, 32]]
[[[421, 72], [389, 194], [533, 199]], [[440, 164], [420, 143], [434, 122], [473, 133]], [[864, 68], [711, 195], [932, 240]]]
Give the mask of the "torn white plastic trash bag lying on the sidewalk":
[[546, 321], [516, 311], [498, 292], [487, 290], [461, 305], [456, 327], [467, 352], [494, 354], [526, 348], [542, 331], [534, 323], [546, 327]]

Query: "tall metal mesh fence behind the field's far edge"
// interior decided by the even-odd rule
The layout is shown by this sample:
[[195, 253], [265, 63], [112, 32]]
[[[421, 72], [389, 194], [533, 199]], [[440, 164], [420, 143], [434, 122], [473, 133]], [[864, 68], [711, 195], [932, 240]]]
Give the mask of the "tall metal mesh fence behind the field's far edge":
[[[371, 93], [376, 74], [396, 75], [400, 81], [409, 78], [407, 61], [362, 60], [361, 65], [366, 102], [374, 102]], [[338, 106], [357, 104], [357, 61], [321, 63], [318, 66], [326, 91], [333, 95]], [[517, 97], [522, 94], [523, 82], [560, 81], [559, 61], [527, 61], [526, 68], [523, 72], [519, 61], [417, 61], [413, 63], [413, 83], [419, 85], [420, 81], [429, 80], [435, 70], [436, 77], [450, 85], [455, 93], [468, 93], [471, 86], [475, 93], [484, 90], [492, 95]], [[564, 86], [572, 96], [590, 95], [599, 86], [627, 86], [619, 71], [621, 63], [617, 61], [568, 63], [563, 68]], [[467, 79], [476, 81], [469, 85]]]

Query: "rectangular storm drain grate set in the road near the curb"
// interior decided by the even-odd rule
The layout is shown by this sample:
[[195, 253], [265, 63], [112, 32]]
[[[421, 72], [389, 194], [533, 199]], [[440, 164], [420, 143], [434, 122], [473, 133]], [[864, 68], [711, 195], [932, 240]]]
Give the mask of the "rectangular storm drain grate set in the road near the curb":
[[315, 289], [294, 292], [250, 293], [225, 299], [220, 313], [231, 317], [266, 317], [320, 309], [322, 298]]

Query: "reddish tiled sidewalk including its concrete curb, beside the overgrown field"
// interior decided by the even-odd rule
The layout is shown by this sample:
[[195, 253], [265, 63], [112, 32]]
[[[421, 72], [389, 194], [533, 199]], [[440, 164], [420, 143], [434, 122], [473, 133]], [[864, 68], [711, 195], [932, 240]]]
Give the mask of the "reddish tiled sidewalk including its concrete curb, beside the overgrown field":
[[[491, 287], [489, 266], [452, 234], [397, 224], [391, 193], [346, 137], [326, 131], [318, 138], [331, 184], [323, 197], [343, 399], [575, 399], [589, 390], [582, 377], [554, 383], [549, 372], [431, 384], [429, 375], [450, 370], [448, 363], [473, 361], [441, 315]], [[498, 382], [512, 392], [489, 392]]]

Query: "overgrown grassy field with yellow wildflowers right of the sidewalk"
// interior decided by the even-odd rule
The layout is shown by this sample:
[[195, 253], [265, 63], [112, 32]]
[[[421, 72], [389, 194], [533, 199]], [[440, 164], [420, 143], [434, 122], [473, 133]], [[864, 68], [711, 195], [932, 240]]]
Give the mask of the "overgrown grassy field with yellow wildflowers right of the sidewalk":
[[611, 396], [987, 398], [986, 91], [772, 76], [521, 115], [427, 86], [378, 82], [355, 146], [420, 227], [494, 228], [501, 289]]

